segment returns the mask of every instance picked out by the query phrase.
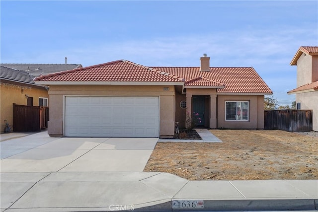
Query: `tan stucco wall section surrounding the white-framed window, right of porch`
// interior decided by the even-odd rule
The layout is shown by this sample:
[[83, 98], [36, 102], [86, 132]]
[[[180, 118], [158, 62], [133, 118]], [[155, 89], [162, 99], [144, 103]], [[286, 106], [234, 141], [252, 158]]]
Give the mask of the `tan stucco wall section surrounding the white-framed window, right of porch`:
[[[218, 128], [228, 129], [263, 129], [264, 128], [264, 97], [253, 95], [218, 95]], [[226, 121], [226, 101], [249, 101], [248, 121]]]

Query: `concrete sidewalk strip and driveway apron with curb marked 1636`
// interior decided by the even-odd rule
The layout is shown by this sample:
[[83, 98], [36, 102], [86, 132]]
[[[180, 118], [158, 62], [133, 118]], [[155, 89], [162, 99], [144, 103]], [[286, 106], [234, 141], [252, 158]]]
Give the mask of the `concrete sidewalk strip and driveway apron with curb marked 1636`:
[[1, 173], [1, 211], [314, 211], [317, 186], [317, 180], [188, 181], [158, 172]]

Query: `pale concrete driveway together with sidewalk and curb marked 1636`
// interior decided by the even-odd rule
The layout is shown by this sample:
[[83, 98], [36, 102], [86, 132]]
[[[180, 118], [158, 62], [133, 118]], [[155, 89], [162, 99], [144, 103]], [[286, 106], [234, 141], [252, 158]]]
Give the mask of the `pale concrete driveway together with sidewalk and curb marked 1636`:
[[142, 172], [158, 139], [2, 141], [1, 212], [315, 211], [318, 180], [188, 181]]

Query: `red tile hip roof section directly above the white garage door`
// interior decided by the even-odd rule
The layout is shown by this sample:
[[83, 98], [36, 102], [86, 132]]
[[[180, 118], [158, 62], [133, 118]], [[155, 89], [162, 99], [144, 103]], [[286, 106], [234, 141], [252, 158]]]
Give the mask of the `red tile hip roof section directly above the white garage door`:
[[35, 81], [131, 81], [182, 82], [184, 79], [130, 61], [119, 60], [105, 64], [41, 76]]

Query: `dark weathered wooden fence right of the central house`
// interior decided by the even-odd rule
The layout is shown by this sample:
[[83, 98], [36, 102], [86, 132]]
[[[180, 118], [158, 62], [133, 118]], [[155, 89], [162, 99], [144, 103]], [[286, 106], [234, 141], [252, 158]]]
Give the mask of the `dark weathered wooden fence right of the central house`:
[[265, 110], [265, 130], [313, 131], [312, 110]]

